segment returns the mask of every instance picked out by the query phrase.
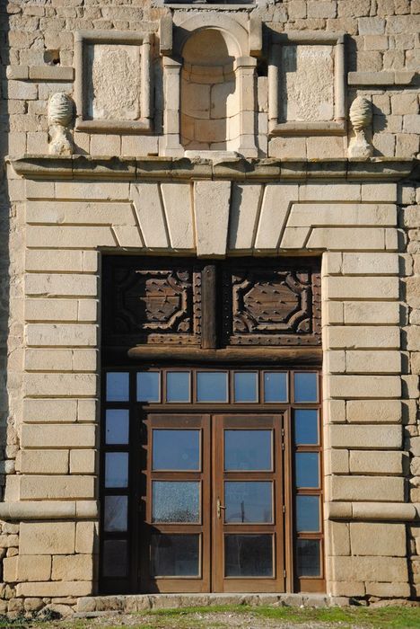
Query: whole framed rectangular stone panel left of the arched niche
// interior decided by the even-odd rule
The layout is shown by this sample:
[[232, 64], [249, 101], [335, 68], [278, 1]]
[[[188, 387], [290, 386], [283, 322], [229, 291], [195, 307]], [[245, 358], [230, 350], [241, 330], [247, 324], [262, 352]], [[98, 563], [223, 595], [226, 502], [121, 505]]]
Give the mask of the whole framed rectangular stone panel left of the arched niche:
[[76, 128], [124, 133], [152, 130], [150, 49], [148, 33], [75, 34]]

